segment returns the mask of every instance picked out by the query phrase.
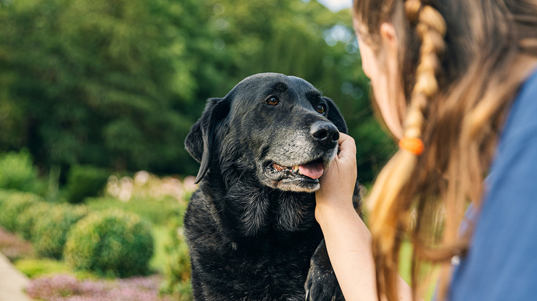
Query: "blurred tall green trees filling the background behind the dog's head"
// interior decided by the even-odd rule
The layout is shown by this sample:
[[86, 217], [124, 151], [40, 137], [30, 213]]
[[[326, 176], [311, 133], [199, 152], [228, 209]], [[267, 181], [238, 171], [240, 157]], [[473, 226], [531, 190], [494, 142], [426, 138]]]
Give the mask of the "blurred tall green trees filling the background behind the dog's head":
[[[349, 0], [350, 1], [350, 0]], [[210, 97], [258, 72], [335, 100], [369, 182], [394, 150], [373, 117], [350, 10], [315, 0], [0, 0], [0, 152], [39, 175], [74, 166], [196, 175], [183, 142]]]

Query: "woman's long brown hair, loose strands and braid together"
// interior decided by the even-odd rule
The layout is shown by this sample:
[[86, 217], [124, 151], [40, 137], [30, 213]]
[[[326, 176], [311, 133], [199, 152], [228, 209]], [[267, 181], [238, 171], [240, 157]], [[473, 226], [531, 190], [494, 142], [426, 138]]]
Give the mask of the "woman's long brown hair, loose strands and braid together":
[[404, 136], [425, 145], [421, 155], [400, 149], [367, 199], [379, 298], [397, 299], [405, 238], [414, 297], [423, 293], [425, 263], [443, 267], [443, 297], [450, 258], [469, 247], [471, 227], [459, 233], [465, 209], [470, 201], [479, 207], [503, 120], [531, 71], [528, 58], [537, 57], [537, 1], [354, 0], [353, 17], [373, 49], [381, 23], [397, 28], [406, 95], [398, 111]]

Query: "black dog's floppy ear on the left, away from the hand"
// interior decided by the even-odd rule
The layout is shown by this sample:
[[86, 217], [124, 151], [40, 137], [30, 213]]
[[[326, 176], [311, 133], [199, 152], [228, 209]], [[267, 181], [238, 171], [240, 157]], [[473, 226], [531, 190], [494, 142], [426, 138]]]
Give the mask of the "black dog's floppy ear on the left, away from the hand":
[[202, 117], [192, 126], [185, 139], [185, 148], [201, 164], [196, 176], [196, 183], [199, 183], [209, 170], [215, 128], [228, 113], [229, 102], [227, 98], [209, 98]]

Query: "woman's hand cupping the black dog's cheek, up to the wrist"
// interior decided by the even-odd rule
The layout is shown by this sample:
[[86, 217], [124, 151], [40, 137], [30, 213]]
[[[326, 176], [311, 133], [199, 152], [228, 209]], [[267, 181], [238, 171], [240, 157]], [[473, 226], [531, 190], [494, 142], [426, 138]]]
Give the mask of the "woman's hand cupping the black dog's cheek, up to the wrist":
[[321, 188], [315, 192], [315, 218], [322, 223], [326, 214], [352, 210], [352, 192], [356, 184], [356, 144], [349, 135], [339, 133], [339, 154], [320, 179]]

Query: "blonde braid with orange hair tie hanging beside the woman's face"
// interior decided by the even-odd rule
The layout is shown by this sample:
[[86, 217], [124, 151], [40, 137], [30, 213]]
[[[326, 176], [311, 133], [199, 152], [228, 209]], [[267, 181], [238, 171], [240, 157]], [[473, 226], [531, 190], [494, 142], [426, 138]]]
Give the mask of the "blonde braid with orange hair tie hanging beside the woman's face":
[[[408, 221], [401, 218], [401, 212], [408, 211], [410, 203], [398, 203], [400, 194], [405, 193], [408, 182], [412, 180], [413, 170], [417, 167], [418, 156], [423, 152], [421, 142], [423, 124], [428, 113], [428, 104], [438, 93], [439, 85], [436, 75], [441, 68], [439, 57], [444, 51], [444, 34], [446, 25], [441, 14], [430, 5], [420, 0], [407, 0], [405, 10], [411, 25], [416, 28], [421, 41], [419, 63], [415, 74], [415, 85], [410, 96], [406, 118], [403, 120], [403, 139], [401, 148], [387, 166], [383, 168], [369, 199], [372, 201], [370, 230], [375, 246], [375, 260], [386, 263], [384, 269], [377, 271], [380, 291], [388, 290], [383, 285], [392, 286], [397, 282], [394, 269], [395, 258], [401, 245], [401, 227]], [[414, 142], [417, 147], [406, 147], [405, 143]], [[408, 219], [408, 216], [405, 216]], [[379, 266], [379, 264], [377, 264]], [[392, 300], [397, 296], [387, 296]]]

